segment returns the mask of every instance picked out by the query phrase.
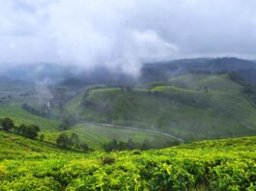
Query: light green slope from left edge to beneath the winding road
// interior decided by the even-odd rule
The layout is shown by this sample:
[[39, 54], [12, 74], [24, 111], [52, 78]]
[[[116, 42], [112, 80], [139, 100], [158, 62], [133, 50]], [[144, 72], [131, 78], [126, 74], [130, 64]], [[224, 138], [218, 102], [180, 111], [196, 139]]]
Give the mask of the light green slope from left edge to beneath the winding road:
[[[20, 123], [38, 124], [43, 131], [44, 139], [51, 143], [55, 143], [58, 135], [61, 133], [61, 131], [58, 130], [60, 122], [35, 116], [18, 107], [0, 108], [0, 118], [5, 117], [13, 119], [16, 125]], [[156, 143], [161, 146], [166, 144], [167, 141], [172, 141], [169, 137], [152, 132], [120, 129], [90, 123], [77, 124], [64, 132], [67, 134], [75, 132], [79, 135], [81, 142], [87, 143], [90, 147], [97, 150], [101, 150], [102, 145], [108, 143], [112, 139], [128, 141], [128, 138], [131, 138], [136, 142], [143, 142], [148, 139], [156, 141]]]

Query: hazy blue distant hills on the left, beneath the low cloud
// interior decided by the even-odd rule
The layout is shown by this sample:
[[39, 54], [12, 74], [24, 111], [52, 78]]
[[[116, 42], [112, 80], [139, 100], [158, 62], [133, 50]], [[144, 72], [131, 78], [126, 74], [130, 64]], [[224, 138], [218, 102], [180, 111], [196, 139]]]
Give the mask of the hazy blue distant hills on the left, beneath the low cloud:
[[73, 88], [85, 85], [134, 85], [135, 80], [124, 71], [97, 67], [89, 70], [53, 63], [36, 63], [11, 67], [0, 72], [13, 80], [39, 84], [59, 84]]

